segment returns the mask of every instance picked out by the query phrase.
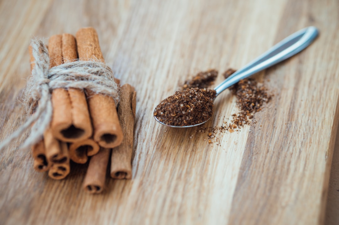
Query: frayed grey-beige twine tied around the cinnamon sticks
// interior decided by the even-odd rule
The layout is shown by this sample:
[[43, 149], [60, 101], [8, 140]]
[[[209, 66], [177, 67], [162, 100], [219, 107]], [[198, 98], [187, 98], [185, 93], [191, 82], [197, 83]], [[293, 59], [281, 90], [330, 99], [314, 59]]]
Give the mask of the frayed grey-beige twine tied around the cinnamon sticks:
[[[32, 146], [42, 139], [49, 126], [53, 107], [51, 93], [57, 88], [83, 89], [87, 94], [102, 94], [112, 97], [118, 104], [118, 86], [113, 71], [103, 62], [73, 61], [49, 69], [49, 55], [46, 46], [40, 40], [31, 40], [35, 66], [23, 92], [23, 104], [28, 119], [0, 144], [0, 150], [32, 127], [31, 133], [21, 148]], [[88, 95], [87, 95], [88, 96]]]

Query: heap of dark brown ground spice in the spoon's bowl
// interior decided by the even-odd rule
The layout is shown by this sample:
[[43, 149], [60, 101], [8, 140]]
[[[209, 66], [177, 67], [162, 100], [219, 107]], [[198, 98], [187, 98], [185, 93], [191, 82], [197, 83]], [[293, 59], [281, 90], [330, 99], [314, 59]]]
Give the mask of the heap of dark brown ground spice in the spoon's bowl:
[[172, 126], [190, 126], [210, 119], [216, 92], [191, 88], [178, 91], [164, 99], [154, 110], [154, 116]]

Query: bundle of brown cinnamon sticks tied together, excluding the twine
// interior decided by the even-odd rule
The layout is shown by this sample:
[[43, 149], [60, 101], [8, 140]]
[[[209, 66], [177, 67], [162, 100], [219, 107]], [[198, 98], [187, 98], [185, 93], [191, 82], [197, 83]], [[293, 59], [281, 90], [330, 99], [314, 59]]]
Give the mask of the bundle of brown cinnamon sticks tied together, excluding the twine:
[[[51, 36], [48, 52], [50, 68], [78, 60], [104, 62], [92, 27], [79, 29], [76, 37], [67, 33]], [[119, 86], [120, 81], [115, 81]], [[119, 105], [112, 97], [91, 90], [54, 89], [51, 124], [43, 139], [32, 146], [34, 169], [63, 179], [71, 171], [70, 160], [78, 164], [89, 160], [84, 179], [84, 190], [89, 193], [104, 190], [109, 159], [112, 178], [131, 179], [136, 92], [129, 84], [119, 89]]]

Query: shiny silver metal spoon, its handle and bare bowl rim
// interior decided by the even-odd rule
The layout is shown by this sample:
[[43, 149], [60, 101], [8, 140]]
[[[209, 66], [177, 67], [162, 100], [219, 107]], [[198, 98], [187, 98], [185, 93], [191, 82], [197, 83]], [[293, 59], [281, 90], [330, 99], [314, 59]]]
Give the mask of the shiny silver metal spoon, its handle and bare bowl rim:
[[[317, 36], [318, 29], [314, 26], [306, 27], [291, 34], [272, 48], [268, 49], [268, 51], [260, 55], [258, 58], [247, 64], [245, 67], [237, 70], [234, 74], [215, 87], [214, 90], [217, 93], [216, 96], [240, 80], [245, 79], [299, 53], [308, 45], [310, 45]], [[159, 121], [156, 116], [154, 116], [154, 118], [163, 125], [181, 128], [199, 126], [209, 120], [208, 119], [205, 122], [190, 126], [172, 126]]]

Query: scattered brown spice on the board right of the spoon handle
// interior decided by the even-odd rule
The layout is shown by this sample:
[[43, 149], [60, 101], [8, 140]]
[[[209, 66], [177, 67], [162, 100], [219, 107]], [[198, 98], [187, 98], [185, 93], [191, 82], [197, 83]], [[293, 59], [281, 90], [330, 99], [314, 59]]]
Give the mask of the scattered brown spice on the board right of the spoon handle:
[[268, 94], [263, 85], [259, 85], [253, 78], [240, 80], [231, 88], [231, 92], [237, 98], [237, 105], [240, 112], [233, 114], [232, 124], [229, 125], [229, 131], [233, 132], [234, 128], [242, 127], [244, 124], [251, 122], [253, 114], [262, 109], [262, 105], [271, 100], [272, 96]]

